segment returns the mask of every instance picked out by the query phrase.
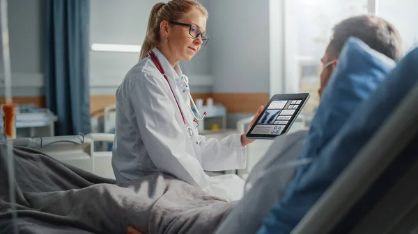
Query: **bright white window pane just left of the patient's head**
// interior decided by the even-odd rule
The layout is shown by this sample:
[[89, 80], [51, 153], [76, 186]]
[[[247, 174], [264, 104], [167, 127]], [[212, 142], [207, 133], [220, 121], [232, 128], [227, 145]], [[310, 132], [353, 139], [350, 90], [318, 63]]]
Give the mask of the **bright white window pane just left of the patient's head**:
[[[297, 54], [293, 61], [297, 63], [296, 74], [299, 74], [300, 92], [311, 94], [304, 112], [313, 113], [319, 104], [320, 58], [330, 40], [332, 27], [347, 17], [366, 14], [368, 1], [297, 0], [295, 2], [299, 15], [296, 22]], [[286, 69], [287, 67], [289, 66], [286, 65]]]

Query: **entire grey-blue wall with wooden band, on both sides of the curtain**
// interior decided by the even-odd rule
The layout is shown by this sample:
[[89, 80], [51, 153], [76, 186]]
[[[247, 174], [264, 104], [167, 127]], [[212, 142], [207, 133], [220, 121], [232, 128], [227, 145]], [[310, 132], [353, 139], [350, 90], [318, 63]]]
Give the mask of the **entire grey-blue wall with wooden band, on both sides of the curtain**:
[[[139, 22], [148, 20], [156, 2], [91, 0], [91, 43], [141, 44], [145, 26]], [[13, 96], [17, 103], [45, 105], [45, 3], [8, 1]], [[210, 43], [192, 61], [182, 62], [183, 71], [190, 77], [194, 97], [213, 97], [224, 104], [233, 126], [236, 119], [251, 115], [268, 100], [268, 1], [201, 3], [210, 12]], [[91, 114], [100, 117], [104, 106], [114, 103], [118, 83], [139, 54], [90, 51], [90, 56]]]

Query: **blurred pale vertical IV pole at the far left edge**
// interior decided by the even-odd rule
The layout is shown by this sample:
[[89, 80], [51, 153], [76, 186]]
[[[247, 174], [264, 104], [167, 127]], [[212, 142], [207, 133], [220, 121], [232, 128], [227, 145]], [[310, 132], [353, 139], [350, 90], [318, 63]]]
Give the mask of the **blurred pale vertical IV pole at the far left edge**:
[[[8, 16], [7, 16], [7, 0], [0, 0], [0, 21], [1, 21], [1, 42], [3, 57], [3, 84], [4, 84], [4, 102], [6, 105], [12, 104], [12, 77], [10, 67], [10, 44], [8, 34]], [[4, 121], [6, 122], [6, 121]], [[3, 124], [4, 124], [3, 122]], [[14, 127], [14, 126], [13, 126]], [[6, 131], [6, 126], [3, 128]], [[16, 197], [15, 197], [15, 163], [13, 158], [13, 142], [6, 140], [6, 148], [8, 155], [8, 183], [9, 183], [9, 199], [10, 208], [12, 210], [13, 231], [15, 234], [19, 233], [17, 229], [17, 212], [16, 212]]]

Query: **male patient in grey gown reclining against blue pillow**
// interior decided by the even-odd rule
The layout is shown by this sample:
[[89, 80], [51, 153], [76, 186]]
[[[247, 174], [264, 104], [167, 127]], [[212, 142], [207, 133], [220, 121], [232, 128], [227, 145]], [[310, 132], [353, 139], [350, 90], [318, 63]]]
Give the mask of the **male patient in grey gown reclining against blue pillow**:
[[[371, 15], [345, 19], [333, 28], [330, 43], [321, 59], [323, 69], [319, 95], [327, 86], [349, 37], [359, 38], [393, 60], [399, 60], [403, 54], [401, 37], [389, 22]], [[248, 191], [219, 226], [217, 233], [256, 233], [269, 208], [277, 203], [291, 181], [295, 164], [288, 163], [291, 167], [284, 165], [285, 162], [297, 161], [306, 134], [307, 131], [297, 131], [274, 140], [263, 159], [251, 171], [246, 186]]]

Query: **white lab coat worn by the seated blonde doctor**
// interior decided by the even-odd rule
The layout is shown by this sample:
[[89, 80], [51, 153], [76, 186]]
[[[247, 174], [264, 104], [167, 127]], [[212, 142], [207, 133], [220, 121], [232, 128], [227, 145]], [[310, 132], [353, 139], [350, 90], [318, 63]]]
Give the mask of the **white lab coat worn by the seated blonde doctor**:
[[[112, 157], [116, 181], [134, 181], [164, 172], [228, 201], [240, 199], [244, 187], [241, 178], [233, 174], [210, 177], [203, 172], [245, 168], [247, 153], [240, 135], [230, 135], [220, 142], [199, 135], [180, 67], [172, 67], [158, 49], [153, 51], [169, 83], [148, 57], [127, 72], [116, 91]], [[192, 126], [192, 137], [173, 94], [186, 126]]]

